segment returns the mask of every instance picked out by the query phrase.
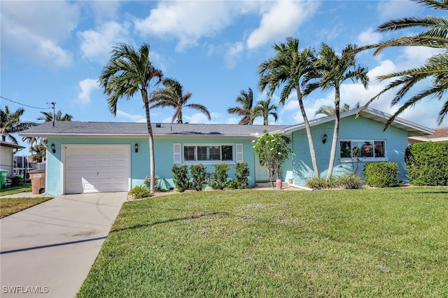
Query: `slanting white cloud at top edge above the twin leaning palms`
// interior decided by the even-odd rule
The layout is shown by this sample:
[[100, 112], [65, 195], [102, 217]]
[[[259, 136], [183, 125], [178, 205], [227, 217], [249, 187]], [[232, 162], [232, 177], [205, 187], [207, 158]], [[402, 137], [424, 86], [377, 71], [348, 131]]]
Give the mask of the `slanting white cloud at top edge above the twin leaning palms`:
[[258, 48], [279, 38], [294, 33], [318, 8], [318, 2], [276, 1], [272, 8], [262, 15], [260, 27], [255, 29], [246, 41], [248, 49]]

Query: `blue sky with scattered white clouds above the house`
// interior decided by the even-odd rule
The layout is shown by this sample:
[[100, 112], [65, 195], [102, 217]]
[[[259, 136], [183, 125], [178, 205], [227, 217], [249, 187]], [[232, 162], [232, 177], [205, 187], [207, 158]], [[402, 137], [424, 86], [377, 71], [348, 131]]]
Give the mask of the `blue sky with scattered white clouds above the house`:
[[[193, 93], [191, 103], [203, 104], [211, 113], [209, 121], [202, 113], [185, 109], [184, 122], [237, 123], [239, 118], [227, 110], [237, 106], [241, 90], [251, 87], [256, 101], [266, 99], [258, 90], [256, 71], [275, 54], [274, 43], [295, 36], [303, 48], [311, 45], [318, 50], [327, 43], [340, 52], [348, 43], [366, 45], [397, 36], [374, 32], [383, 22], [435, 14], [404, 0], [1, 1], [0, 5], [1, 97], [20, 103], [1, 99], [1, 106], [15, 111], [27, 105], [23, 106], [27, 121], [50, 111], [52, 101], [76, 121], [146, 121], [139, 96], [122, 99], [113, 117], [97, 78], [114, 45], [139, 48], [149, 43], [153, 64]], [[342, 103], [365, 103], [386, 85], [377, 76], [419, 66], [434, 53], [428, 48], [388, 49], [377, 57], [360, 53], [358, 62], [369, 69], [370, 85], [365, 90], [347, 81], [342, 85]], [[323, 104], [332, 104], [333, 96], [332, 91], [311, 94], [306, 99], [309, 118]], [[391, 96], [384, 94], [372, 108], [392, 113]], [[272, 102], [277, 104], [278, 93]], [[434, 128], [441, 106], [428, 99], [401, 118]], [[154, 109], [151, 117], [153, 122], [171, 122], [173, 113], [172, 108]], [[302, 122], [295, 97], [279, 106], [278, 113], [276, 124]], [[255, 123], [262, 124], [262, 119]], [[442, 126], [448, 126], [447, 120]]]

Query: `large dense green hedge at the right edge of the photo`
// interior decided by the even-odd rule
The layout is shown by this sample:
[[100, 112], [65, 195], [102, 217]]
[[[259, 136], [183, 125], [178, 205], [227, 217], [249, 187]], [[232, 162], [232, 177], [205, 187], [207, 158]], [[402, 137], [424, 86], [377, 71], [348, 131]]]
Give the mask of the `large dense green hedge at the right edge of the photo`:
[[414, 143], [405, 162], [412, 185], [448, 185], [448, 141]]

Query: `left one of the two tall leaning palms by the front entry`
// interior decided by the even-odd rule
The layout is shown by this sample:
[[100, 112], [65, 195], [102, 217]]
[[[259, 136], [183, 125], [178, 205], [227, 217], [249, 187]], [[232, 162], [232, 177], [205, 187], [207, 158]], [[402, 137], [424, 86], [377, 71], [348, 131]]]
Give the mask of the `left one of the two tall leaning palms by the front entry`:
[[281, 105], [285, 104], [286, 99], [288, 99], [293, 90], [297, 93], [297, 101], [299, 101], [300, 111], [302, 112], [307, 131], [309, 154], [311, 155], [314, 176], [318, 177], [319, 171], [313, 136], [303, 104], [305, 94], [301, 90], [307, 84], [304, 80], [305, 76], [313, 71], [314, 50], [305, 48], [300, 51], [299, 41], [293, 37], [286, 38], [286, 43], [274, 44], [274, 50], [276, 50], [276, 56], [265, 60], [258, 66], [258, 74], [260, 75], [258, 85], [260, 85], [260, 90], [262, 91], [266, 88], [268, 89], [267, 94], [269, 97], [272, 97], [275, 90], [279, 89], [280, 85], [283, 85], [279, 101]]

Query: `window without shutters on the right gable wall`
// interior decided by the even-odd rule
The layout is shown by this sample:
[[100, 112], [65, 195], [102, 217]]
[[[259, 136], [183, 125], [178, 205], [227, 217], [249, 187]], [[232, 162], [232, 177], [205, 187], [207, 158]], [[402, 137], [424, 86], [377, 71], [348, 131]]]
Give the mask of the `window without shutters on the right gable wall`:
[[341, 159], [386, 159], [386, 141], [344, 140], [339, 141]]

